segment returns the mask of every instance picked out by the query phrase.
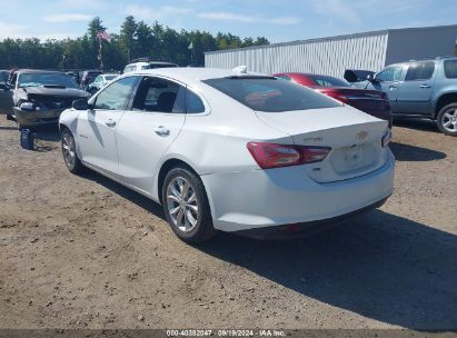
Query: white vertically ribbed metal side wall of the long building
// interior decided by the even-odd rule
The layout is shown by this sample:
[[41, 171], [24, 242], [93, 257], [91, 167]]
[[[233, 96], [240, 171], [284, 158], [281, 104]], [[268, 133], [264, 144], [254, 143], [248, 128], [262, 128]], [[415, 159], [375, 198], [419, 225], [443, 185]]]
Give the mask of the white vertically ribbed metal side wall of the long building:
[[386, 47], [384, 31], [208, 52], [205, 67], [231, 69], [246, 64], [249, 71], [261, 73], [298, 71], [341, 78], [347, 68], [381, 69]]

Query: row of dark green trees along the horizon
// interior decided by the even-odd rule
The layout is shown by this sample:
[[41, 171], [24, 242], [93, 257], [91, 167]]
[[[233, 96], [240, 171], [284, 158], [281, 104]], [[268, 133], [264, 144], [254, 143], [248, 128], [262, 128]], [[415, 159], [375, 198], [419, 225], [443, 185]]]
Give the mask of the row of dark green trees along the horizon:
[[[46, 40], [4, 39], [0, 41], [0, 69], [96, 69], [100, 66], [97, 32], [106, 30], [99, 17], [90, 20], [85, 36], [77, 39]], [[206, 51], [269, 44], [259, 37], [241, 39], [231, 33], [180, 30], [152, 22], [125, 19], [119, 34], [111, 34], [110, 42], [103, 41], [106, 70], [122, 70], [135, 58], [150, 57], [158, 61], [170, 61], [179, 66], [205, 63]], [[189, 44], [192, 43], [192, 50]], [[64, 58], [63, 58], [64, 56]]]

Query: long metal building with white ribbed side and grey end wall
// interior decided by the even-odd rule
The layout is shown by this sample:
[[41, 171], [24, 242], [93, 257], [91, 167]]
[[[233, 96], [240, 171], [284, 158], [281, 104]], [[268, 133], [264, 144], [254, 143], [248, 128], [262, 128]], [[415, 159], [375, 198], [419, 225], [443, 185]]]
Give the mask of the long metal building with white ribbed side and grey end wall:
[[378, 71], [419, 58], [453, 56], [457, 24], [388, 29], [205, 53], [205, 66], [246, 64], [261, 73], [309, 72], [342, 78], [345, 69]]

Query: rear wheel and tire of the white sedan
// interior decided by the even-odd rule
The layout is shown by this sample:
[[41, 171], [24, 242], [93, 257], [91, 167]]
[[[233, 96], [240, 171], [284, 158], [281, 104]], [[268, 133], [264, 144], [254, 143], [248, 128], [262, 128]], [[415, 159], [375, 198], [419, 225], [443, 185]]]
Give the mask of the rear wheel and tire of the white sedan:
[[162, 205], [168, 223], [182, 241], [199, 243], [216, 235], [203, 183], [190, 170], [177, 167], [167, 173]]

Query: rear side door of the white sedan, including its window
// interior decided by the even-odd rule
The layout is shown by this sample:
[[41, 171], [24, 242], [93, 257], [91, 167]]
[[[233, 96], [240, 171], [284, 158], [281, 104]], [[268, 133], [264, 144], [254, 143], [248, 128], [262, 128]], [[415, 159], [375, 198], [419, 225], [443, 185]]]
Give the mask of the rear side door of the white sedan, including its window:
[[131, 108], [117, 129], [122, 181], [152, 192], [158, 163], [186, 120], [186, 88], [159, 77], [141, 78]]

